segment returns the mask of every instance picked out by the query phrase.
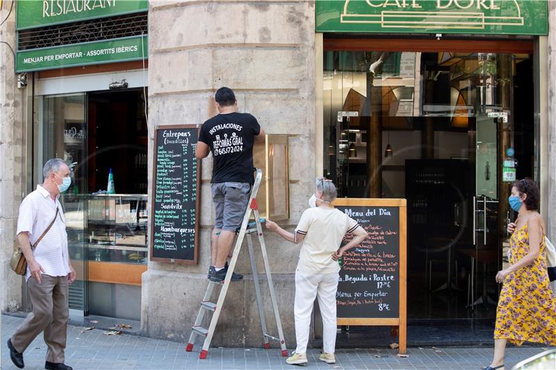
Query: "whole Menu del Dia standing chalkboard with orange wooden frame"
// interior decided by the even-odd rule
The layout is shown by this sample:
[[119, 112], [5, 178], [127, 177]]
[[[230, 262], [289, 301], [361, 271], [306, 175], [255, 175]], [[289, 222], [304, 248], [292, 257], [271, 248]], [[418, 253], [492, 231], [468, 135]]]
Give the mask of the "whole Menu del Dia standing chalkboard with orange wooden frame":
[[[368, 238], [343, 255], [338, 325], [398, 326], [407, 335], [407, 208], [405, 199], [336, 199], [334, 206], [365, 228]], [[346, 235], [343, 243], [352, 239]]]

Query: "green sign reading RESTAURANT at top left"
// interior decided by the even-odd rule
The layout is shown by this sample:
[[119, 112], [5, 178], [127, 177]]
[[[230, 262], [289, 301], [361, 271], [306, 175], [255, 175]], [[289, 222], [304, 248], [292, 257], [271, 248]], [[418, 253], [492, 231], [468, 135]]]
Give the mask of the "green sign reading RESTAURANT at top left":
[[147, 11], [148, 7], [147, 0], [17, 1], [17, 29]]

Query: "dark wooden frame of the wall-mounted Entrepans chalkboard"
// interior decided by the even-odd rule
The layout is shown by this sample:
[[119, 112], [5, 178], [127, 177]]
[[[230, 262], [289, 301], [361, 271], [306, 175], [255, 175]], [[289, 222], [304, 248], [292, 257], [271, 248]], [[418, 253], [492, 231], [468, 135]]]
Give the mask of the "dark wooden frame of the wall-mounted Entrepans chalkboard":
[[[193, 260], [182, 260], [180, 258], [161, 258], [161, 257], [154, 257], [153, 249], [154, 249], [154, 209], [155, 209], [155, 194], [156, 194], [156, 153], [158, 148], [158, 131], [161, 130], [170, 130], [170, 129], [183, 129], [183, 128], [193, 128], [195, 130], [199, 130], [199, 127], [196, 124], [177, 124], [177, 125], [158, 125], [154, 128], [154, 149], [153, 149], [153, 165], [152, 165], [152, 184], [151, 184], [151, 226], [150, 231], [151, 235], [149, 238], [149, 260], [154, 262], [166, 262], [166, 263], [173, 263], [173, 264], [198, 264], [199, 262], [199, 210], [201, 208], [201, 163], [202, 160], [197, 160], [197, 180], [195, 181], [196, 187], [195, 192], [197, 197], [195, 199], [195, 251], [193, 251], [194, 258]], [[198, 133], [197, 133], [198, 135]]]

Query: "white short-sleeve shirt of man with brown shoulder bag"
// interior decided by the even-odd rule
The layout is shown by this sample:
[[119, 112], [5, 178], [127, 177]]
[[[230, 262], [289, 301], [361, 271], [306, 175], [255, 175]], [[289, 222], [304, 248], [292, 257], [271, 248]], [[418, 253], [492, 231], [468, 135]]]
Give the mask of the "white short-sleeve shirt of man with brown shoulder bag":
[[[56, 208], [58, 208], [56, 221], [33, 251], [35, 260], [44, 270], [43, 274], [49, 276], [70, 274], [65, 217], [58, 198], [59, 196], [56, 196], [56, 199], [53, 200], [48, 190], [38, 185], [37, 190], [28, 194], [19, 205], [19, 217], [17, 218], [17, 235], [24, 231], [28, 232], [32, 246], [54, 219]], [[27, 267], [25, 278], [28, 279], [29, 276], [31, 276], [31, 272]]]

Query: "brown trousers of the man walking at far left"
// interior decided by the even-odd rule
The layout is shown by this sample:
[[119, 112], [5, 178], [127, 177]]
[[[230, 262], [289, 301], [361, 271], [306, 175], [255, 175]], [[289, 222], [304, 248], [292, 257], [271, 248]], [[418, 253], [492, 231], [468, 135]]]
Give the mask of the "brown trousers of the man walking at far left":
[[35, 278], [29, 278], [27, 287], [33, 312], [15, 331], [11, 338], [12, 344], [17, 352], [23, 353], [33, 339], [44, 331], [44, 342], [48, 346], [47, 361], [64, 362], [67, 321], [70, 318], [67, 276], [43, 274], [40, 284]]

